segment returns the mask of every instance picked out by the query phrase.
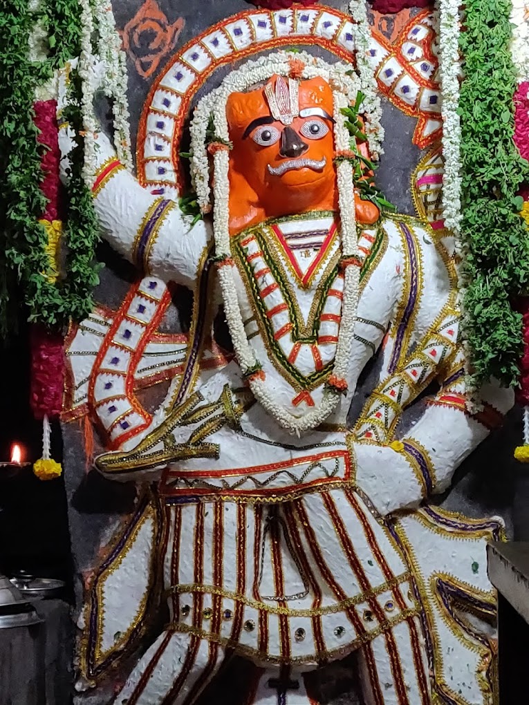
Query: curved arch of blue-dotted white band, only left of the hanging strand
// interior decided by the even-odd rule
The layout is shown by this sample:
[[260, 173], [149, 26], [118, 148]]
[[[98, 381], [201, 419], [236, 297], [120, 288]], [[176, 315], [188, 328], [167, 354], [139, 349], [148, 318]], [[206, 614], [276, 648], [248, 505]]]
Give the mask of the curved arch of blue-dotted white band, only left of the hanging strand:
[[152, 86], [138, 130], [137, 165], [142, 185], [177, 198], [183, 188], [179, 152], [186, 118], [197, 93], [217, 69], [272, 49], [320, 47], [351, 66], [356, 23], [334, 8], [250, 10], [209, 27], [176, 53]]

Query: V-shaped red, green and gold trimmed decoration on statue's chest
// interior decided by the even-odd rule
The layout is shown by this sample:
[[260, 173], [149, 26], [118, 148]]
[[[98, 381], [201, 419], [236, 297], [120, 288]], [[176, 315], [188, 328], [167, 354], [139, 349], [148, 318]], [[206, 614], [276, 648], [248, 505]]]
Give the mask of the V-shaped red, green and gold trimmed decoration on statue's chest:
[[300, 391], [294, 403], [311, 405], [307, 391], [332, 372], [341, 322], [336, 223], [328, 217], [308, 227], [298, 219], [261, 223], [234, 238], [232, 252], [253, 309], [248, 338], [261, 334], [269, 360]]

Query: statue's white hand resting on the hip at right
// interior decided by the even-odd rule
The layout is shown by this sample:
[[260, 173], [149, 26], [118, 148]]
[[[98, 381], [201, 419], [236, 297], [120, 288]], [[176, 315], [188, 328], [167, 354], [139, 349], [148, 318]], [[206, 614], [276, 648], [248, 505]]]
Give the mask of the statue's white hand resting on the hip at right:
[[391, 446], [353, 443], [356, 484], [382, 515], [418, 506], [422, 486], [406, 454]]

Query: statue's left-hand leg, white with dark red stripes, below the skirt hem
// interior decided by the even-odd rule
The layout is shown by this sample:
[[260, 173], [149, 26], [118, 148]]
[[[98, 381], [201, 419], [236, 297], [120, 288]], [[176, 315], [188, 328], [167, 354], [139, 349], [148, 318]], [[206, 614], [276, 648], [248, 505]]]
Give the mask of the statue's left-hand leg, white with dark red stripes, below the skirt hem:
[[114, 705], [193, 705], [223, 659], [218, 644], [164, 632], [140, 659]]

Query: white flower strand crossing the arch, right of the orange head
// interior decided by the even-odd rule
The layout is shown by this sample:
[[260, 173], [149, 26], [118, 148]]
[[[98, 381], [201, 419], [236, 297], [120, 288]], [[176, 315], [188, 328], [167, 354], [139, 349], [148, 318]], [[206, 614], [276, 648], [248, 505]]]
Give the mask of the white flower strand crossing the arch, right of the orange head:
[[372, 35], [367, 21], [365, 0], [351, 0], [349, 12], [353, 20], [355, 20], [355, 24], [353, 25], [353, 37], [355, 41], [356, 68], [360, 76], [361, 90], [363, 94], [365, 94], [360, 112], [364, 113], [366, 116], [364, 128], [371, 157], [377, 160], [380, 154], [384, 153], [382, 149], [384, 128], [380, 123], [382, 118], [382, 102], [377, 86], [377, 78], [375, 77], [375, 72], [368, 58]]

